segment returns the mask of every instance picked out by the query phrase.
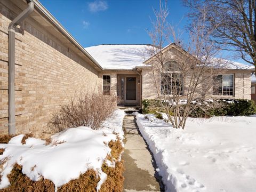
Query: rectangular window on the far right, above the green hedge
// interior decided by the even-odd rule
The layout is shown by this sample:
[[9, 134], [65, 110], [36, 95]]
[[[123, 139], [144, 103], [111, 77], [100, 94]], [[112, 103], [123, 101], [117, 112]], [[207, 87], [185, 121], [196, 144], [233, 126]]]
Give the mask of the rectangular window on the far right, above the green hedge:
[[223, 74], [213, 77], [213, 95], [234, 95], [234, 75]]

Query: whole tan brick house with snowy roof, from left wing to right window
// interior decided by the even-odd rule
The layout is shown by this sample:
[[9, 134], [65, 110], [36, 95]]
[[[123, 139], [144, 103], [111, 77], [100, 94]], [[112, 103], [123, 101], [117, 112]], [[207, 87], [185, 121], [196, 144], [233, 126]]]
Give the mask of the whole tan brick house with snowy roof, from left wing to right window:
[[[151, 45], [84, 49], [37, 0], [0, 2], [0, 135], [44, 130], [51, 114], [77, 90], [116, 94], [121, 105], [155, 99], [145, 60]], [[172, 44], [166, 50], [175, 49]], [[252, 69], [234, 63], [229, 90], [214, 98], [251, 99]], [[221, 85], [225, 86], [225, 85]], [[223, 90], [223, 89], [222, 89]]]

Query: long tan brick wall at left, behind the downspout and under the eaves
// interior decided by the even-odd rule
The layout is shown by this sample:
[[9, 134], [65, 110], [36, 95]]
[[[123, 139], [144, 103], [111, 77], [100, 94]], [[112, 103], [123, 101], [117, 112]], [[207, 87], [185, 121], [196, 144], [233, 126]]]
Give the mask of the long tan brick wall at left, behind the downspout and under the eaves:
[[[0, 135], [8, 133], [7, 29], [16, 10], [0, 3]], [[39, 133], [74, 91], [87, 86], [98, 90], [98, 71], [30, 17], [20, 26], [15, 40], [16, 130]]]

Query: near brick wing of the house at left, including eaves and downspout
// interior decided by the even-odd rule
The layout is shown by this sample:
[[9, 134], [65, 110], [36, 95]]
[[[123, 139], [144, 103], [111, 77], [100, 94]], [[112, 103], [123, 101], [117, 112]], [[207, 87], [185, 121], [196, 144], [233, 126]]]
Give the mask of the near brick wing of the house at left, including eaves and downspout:
[[[23, 10], [31, 13], [10, 28]], [[9, 57], [11, 33], [15, 57]], [[9, 84], [8, 63], [12, 66], [13, 58], [10, 93], [13, 89], [14, 97], [8, 94], [13, 84]], [[51, 113], [68, 102], [75, 90], [84, 86], [98, 90], [101, 71], [99, 63], [37, 0], [0, 1], [0, 135], [42, 131]], [[8, 102], [14, 98], [15, 104]]]

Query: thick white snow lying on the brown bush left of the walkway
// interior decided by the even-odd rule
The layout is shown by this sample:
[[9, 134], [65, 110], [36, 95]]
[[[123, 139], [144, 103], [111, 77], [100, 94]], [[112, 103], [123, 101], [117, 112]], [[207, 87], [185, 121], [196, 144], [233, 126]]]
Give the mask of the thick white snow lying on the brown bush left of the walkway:
[[[28, 138], [26, 144], [22, 145], [22, 134], [13, 137], [8, 144], [0, 144], [0, 148], [5, 149], [0, 156], [0, 188], [10, 184], [7, 174], [10, 174], [13, 164], [18, 163], [22, 165], [22, 172], [31, 180], [37, 181], [43, 176], [53, 181], [56, 189], [93, 169], [100, 176], [99, 189], [107, 177], [101, 166], [104, 161], [108, 161], [106, 156], [111, 151], [108, 142], [116, 140], [117, 135], [123, 139], [124, 115], [124, 111], [117, 109], [99, 131], [76, 127], [55, 134], [50, 145], [36, 138]], [[107, 163], [113, 165], [110, 161]]]

